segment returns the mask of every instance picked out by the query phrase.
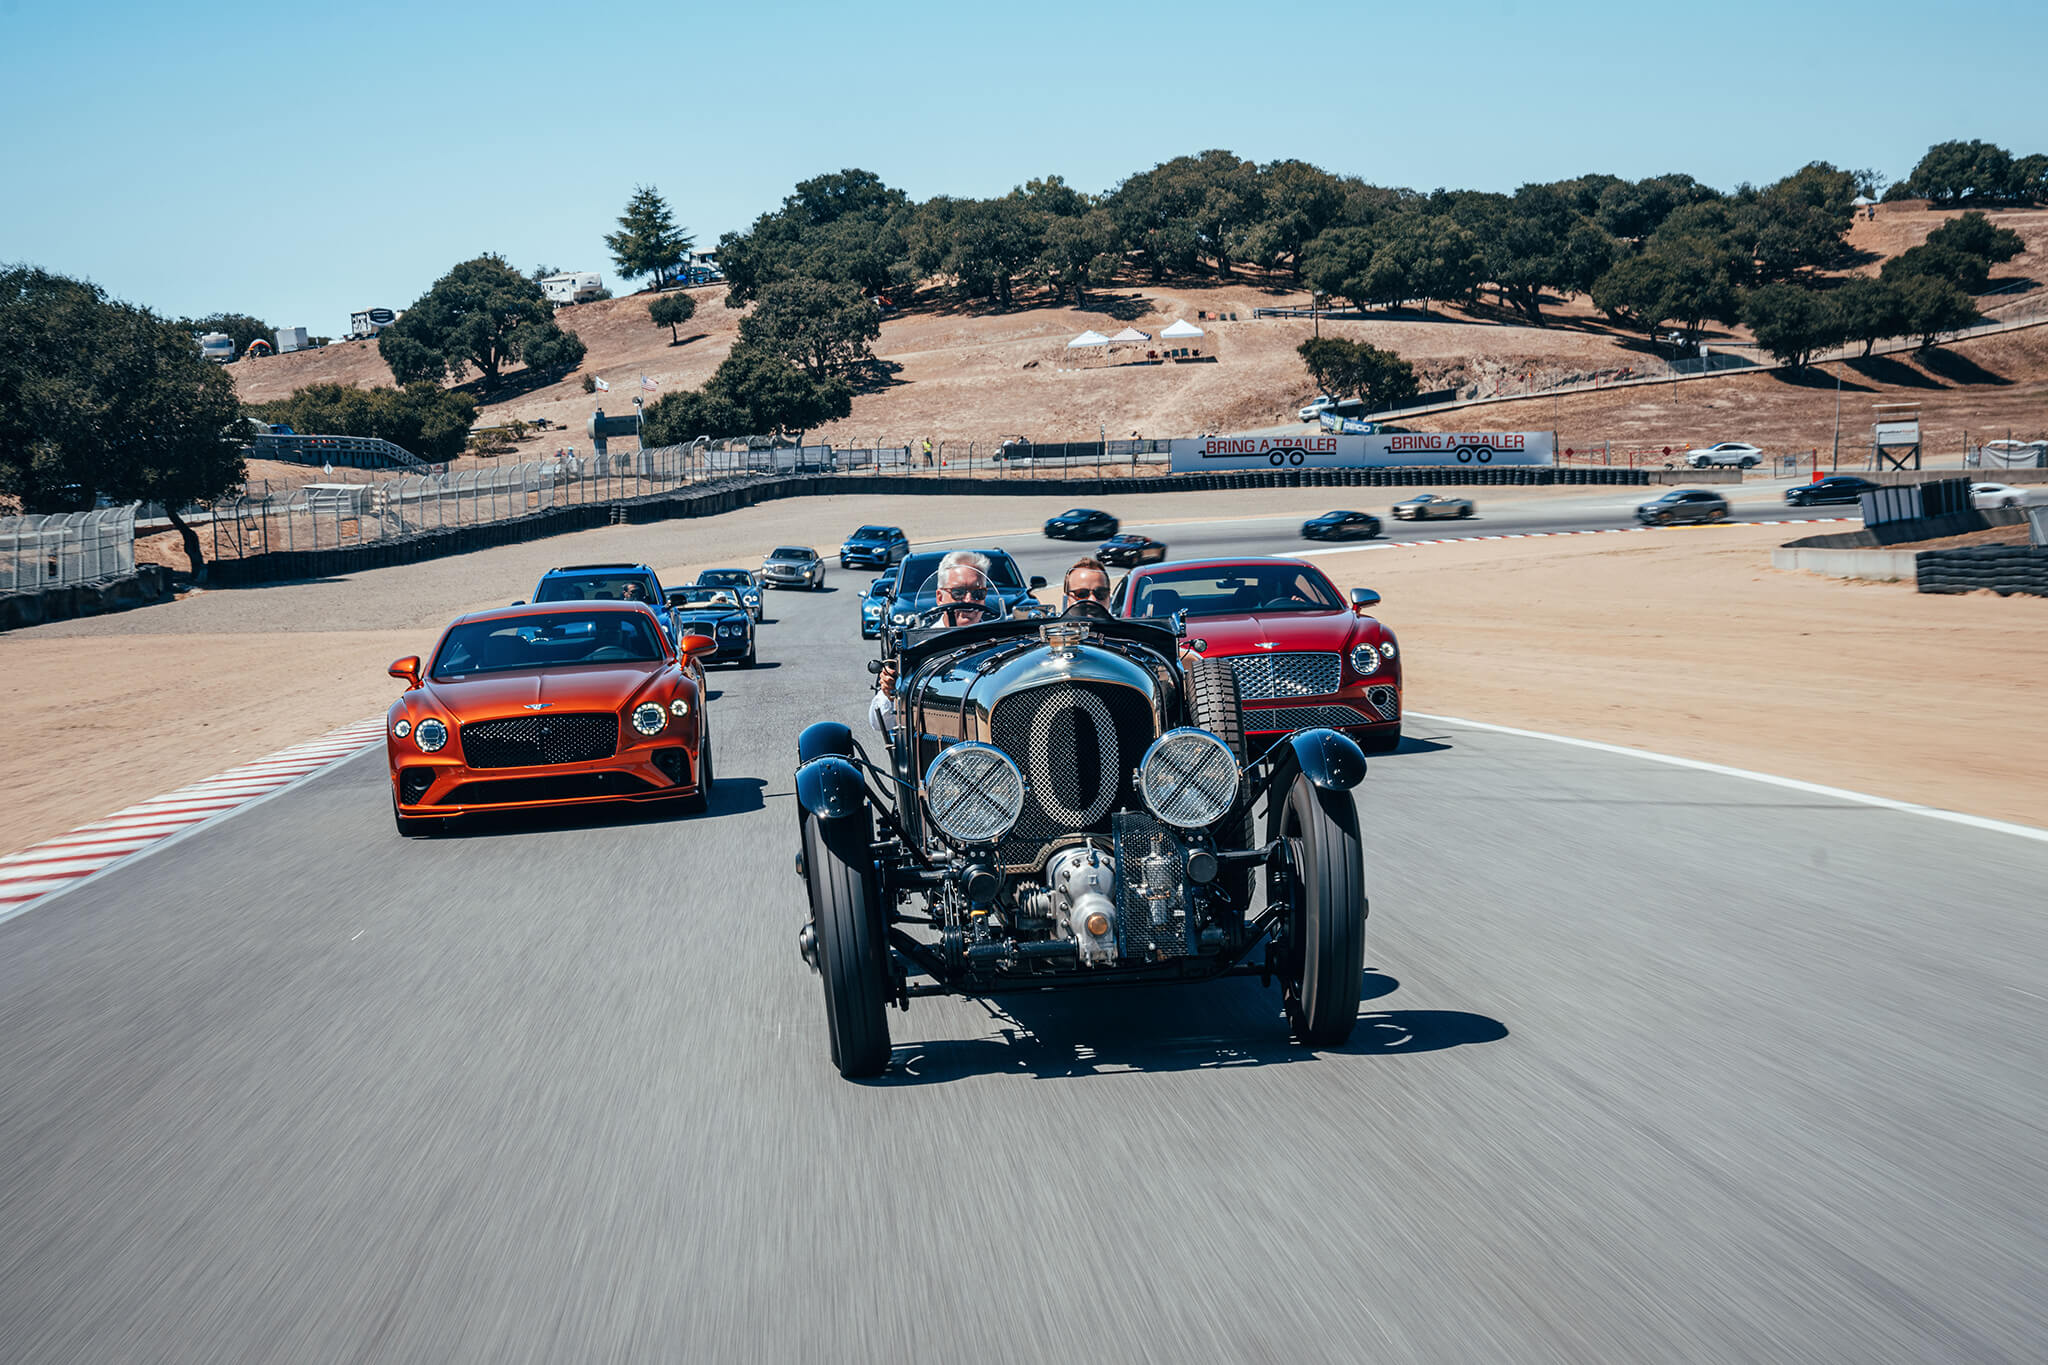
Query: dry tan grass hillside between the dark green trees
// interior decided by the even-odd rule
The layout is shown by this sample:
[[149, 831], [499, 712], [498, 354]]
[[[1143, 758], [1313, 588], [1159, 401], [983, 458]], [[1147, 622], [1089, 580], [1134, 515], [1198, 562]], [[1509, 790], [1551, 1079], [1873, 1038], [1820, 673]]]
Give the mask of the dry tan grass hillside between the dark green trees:
[[[1874, 272], [1882, 258], [1917, 246], [1948, 217], [1907, 201], [1882, 205], [1876, 219], [1858, 219], [1849, 231], [1849, 244], [1864, 254], [1858, 270]], [[1993, 282], [2048, 278], [2042, 274], [2048, 270], [2048, 211], [1997, 211], [1993, 219], [2028, 241], [2028, 254], [2001, 266]], [[614, 413], [631, 405], [641, 375], [657, 385], [649, 399], [700, 385], [737, 340], [741, 313], [725, 307], [723, 287], [698, 289], [694, 297], [698, 313], [680, 329], [680, 344], [670, 342], [668, 327], [647, 321], [647, 295], [565, 309], [561, 323], [590, 348], [584, 368], [530, 391], [522, 391], [514, 375], [483, 409], [483, 420], [547, 417], [567, 426], [567, 444], [575, 444], [594, 405]], [[2017, 301], [2032, 303], [2032, 295], [2013, 291], [1987, 303], [1997, 315]], [[1253, 321], [1251, 311], [1303, 303], [1307, 297], [1298, 291], [1233, 280], [1100, 291], [1085, 309], [991, 311], [942, 303], [909, 309], [883, 323], [874, 346], [885, 370], [881, 383], [854, 399], [846, 422], [819, 436], [838, 444], [874, 438], [913, 442], [922, 436], [993, 440], [1012, 432], [1034, 440], [1094, 440], [1100, 432], [1188, 436], [1288, 422], [1313, 393], [1294, 356], [1294, 346], [1311, 336], [1313, 323]], [[1477, 385], [1485, 393], [1497, 385], [1616, 377], [1640, 372], [1651, 356], [1642, 338], [1610, 327], [1585, 299], [1554, 303], [1548, 315], [1550, 323], [1536, 327], [1491, 307], [1391, 311], [1368, 321], [1323, 321], [1323, 332], [1407, 356], [1425, 389]], [[1112, 362], [1143, 360], [1143, 346], [1108, 356], [1065, 350], [1069, 338], [1090, 327], [1114, 334], [1135, 325], [1157, 336], [1178, 317], [1206, 332], [1198, 362]], [[2040, 334], [2028, 332], [1915, 360], [1851, 366], [1843, 383], [1845, 430], [1868, 426], [1870, 401], [1921, 399], [1937, 440], [1954, 444], [1964, 430], [2003, 432], [2007, 426], [2036, 434], [2034, 428], [2048, 422], [2042, 405], [2048, 340], [2036, 338]], [[1735, 329], [1710, 332], [1708, 340], [1741, 344], [1749, 338]], [[242, 360], [229, 372], [250, 401], [283, 397], [322, 381], [391, 383], [371, 342]], [[584, 393], [584, 375], [606, 379], [612, 391]], [[1556, 428], [1575, 448], [1604, 440], [1661, 448], [1733, 436], [1774, 448], [1808, 448], [1831, 442], [1833, 401], [1831, 377], [1786, 381], [1751, 375], [1675, 389], [1489, 405], [1415, 426]], [[553, 448], [563, 442], [541, 444]]]

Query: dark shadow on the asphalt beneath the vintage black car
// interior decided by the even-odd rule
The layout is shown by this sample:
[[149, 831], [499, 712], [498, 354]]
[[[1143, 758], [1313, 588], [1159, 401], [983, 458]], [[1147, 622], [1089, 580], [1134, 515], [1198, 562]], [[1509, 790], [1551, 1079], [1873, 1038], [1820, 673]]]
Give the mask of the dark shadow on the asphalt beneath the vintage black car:
[[[1376, 1001], [1399, 986], [1393, 976], [1368, 970], [1360, 999]], [[1507, 1025], [1485, 1015], [1395, 1009], [1360, 1013], [1358, 1031], [1341, 1048], [1311, 1050], [1288, 1038], [1280, 988], [1249, 976], [1202, 986], [1006, 995], [981, 1005], [999, 1038], [899, 1044], [889, 1072], [870, 1085], [1272, 1066], [1319, 1056], [1444, 1052], [1507, 1038]]]

